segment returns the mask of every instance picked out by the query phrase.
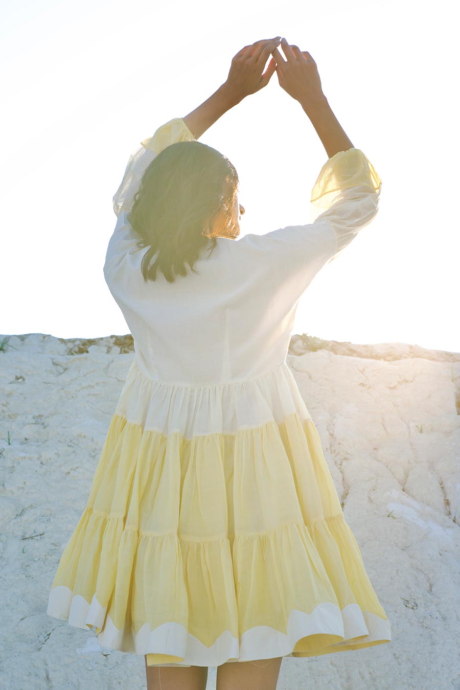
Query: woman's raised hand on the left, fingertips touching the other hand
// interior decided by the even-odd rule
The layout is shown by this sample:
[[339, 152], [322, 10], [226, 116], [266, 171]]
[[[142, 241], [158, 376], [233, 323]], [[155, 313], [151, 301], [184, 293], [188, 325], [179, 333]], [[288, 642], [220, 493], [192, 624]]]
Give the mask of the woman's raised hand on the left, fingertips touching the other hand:
[[223, 84], [232, 95], [243, 100], [251, 93], [267, 86], [277, 63], [272, 57], [266, 72], [262, 74], [268, 56], [277, 46], [281, 37], [256, 41], [252, 46], [244, 46], [232, 59], [227, 81]]

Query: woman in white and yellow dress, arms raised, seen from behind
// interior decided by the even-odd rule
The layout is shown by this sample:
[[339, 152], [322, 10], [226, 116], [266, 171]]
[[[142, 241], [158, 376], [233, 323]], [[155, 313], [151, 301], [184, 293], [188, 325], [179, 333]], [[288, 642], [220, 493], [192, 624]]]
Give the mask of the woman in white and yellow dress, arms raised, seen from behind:
[[[372, 221], [381, 179], [309, 53], [277, 46], [239, 51], [207, 101], [142, 142], [114, 196], [104, 276], [135, 355], [48, 613], [145, 655], [148, 689], [201, 690], [217, 666], [217, 690], [270, 690], [283, 657], [391, 639], [286, 364], [301, 295]], [[232, 242], [237, 172], [197, 139], [274, 70], [328, 154], [323, 213]]]

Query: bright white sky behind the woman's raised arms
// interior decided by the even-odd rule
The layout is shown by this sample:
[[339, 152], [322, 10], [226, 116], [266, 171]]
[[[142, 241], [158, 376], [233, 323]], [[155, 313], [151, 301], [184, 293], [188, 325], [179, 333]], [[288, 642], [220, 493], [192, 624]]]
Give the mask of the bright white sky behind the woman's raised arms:
[[[457, 31], [448, 1], [422, 6], [3, 3], [2, 333], [128, 333], [102, 268], [130, 153], [221, 86], [243, 46], [281, 35], [314, 57], [383, 181], [379, 214], [314, 279], [294, 332], [460, 351]], [[237, 168], [241, 236], [310, 222], [327, 155], [276, 73], [200, 141]]]

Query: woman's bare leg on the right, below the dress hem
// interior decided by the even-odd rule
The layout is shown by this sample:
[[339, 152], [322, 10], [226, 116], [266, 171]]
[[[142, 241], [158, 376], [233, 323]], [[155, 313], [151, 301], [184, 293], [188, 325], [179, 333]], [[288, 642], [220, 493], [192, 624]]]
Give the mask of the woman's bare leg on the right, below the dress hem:
[[282, 656], [235, 661], [217, 667], [216, 690], [276, 690]]

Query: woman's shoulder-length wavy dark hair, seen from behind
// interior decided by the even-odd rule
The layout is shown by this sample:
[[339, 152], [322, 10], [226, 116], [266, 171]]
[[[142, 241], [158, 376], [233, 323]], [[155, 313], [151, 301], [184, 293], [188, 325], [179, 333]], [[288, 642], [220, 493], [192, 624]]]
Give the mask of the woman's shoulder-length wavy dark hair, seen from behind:
[[[194, 273], [201, 250], [216, 237], [239, 235], [234, 204], [239, 178], [228, 158], [201, 141], [177, 141], [164, 148], [144, 171], [128, 221], [141, 237], [144, 282]], [[217, 227], [215, 221], [219, 217]], [[152, 266], [150, 262], [157, 255]], [[208, 255], [208, 256], [209, 256]]]

